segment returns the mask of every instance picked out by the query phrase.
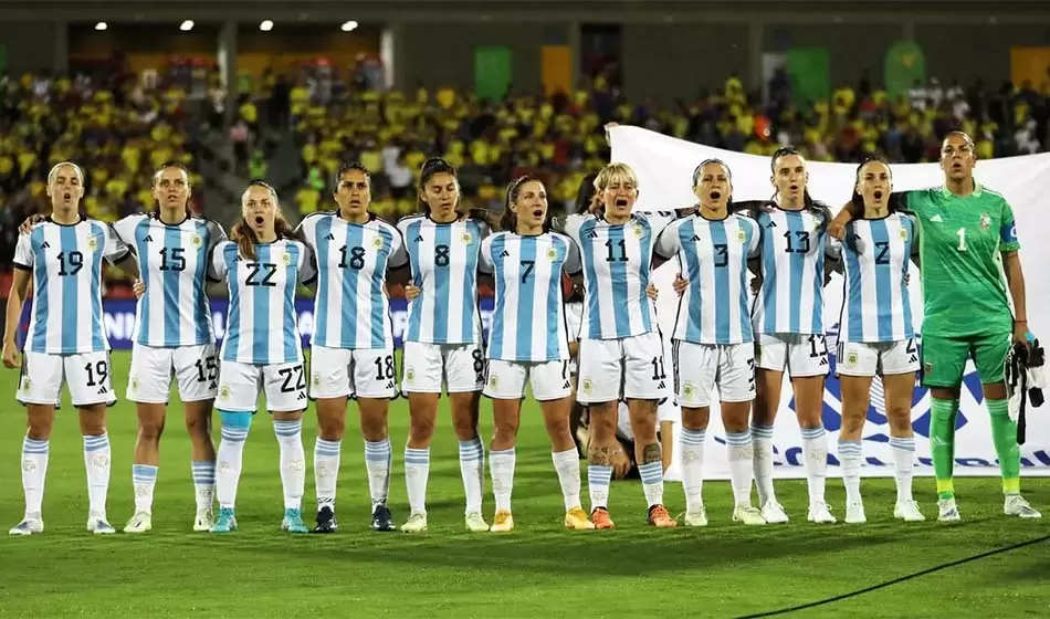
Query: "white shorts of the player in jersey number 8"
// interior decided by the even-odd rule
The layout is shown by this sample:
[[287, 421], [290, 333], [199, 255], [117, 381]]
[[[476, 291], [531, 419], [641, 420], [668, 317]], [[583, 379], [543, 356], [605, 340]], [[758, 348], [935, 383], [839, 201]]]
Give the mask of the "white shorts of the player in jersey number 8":
[[476, 344], [422, 344], [406, 342], [401, 355], [406, 394], [481, 391], [485, 386], [485, 356]]

